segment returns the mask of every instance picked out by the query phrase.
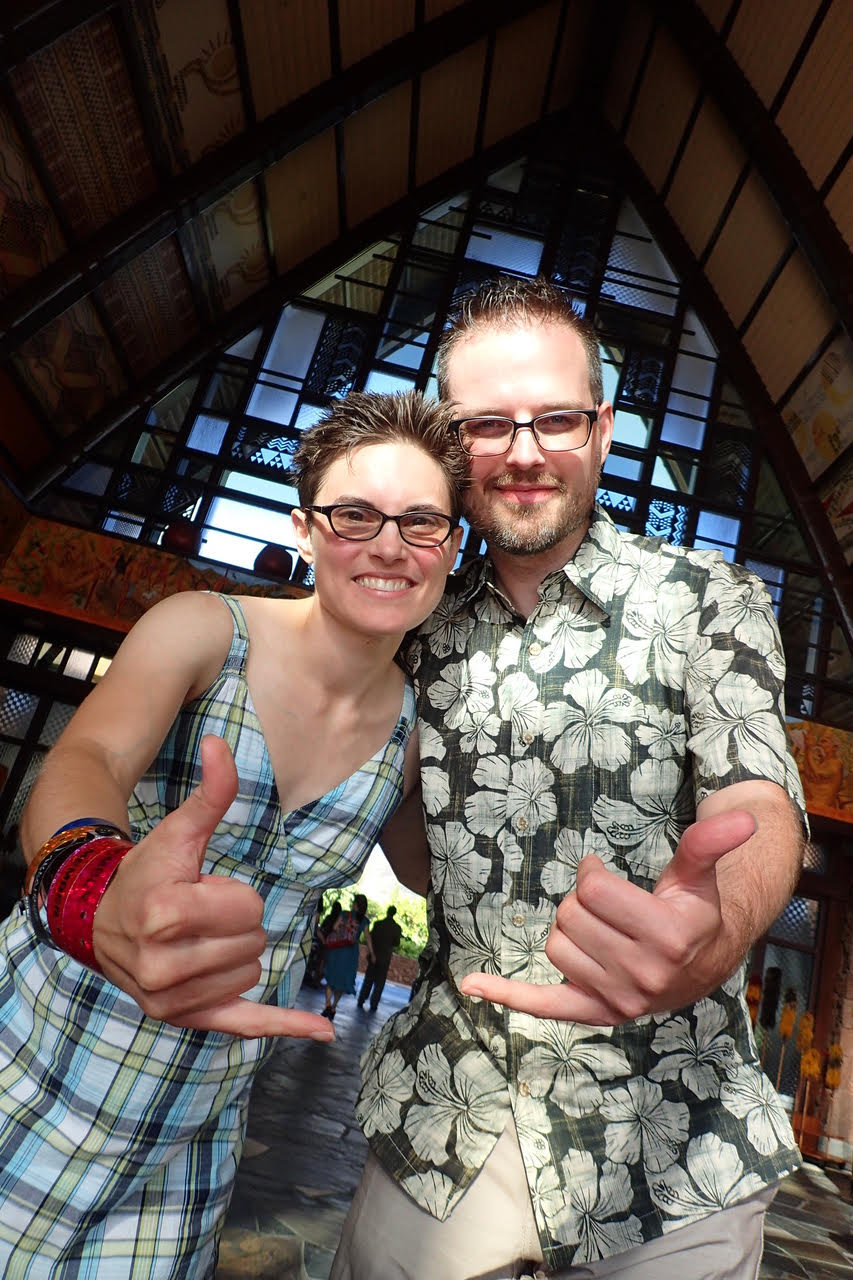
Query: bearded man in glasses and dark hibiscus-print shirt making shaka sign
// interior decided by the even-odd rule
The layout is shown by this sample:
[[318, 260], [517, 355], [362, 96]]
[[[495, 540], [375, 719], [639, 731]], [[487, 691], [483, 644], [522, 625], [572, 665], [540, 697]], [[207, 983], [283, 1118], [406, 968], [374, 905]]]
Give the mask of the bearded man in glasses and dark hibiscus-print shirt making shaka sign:
[[489, 558], [409, 654], [432, 941], [333, 1276], [754, 1276], [799, 1158], [743, 996], [803, 846], [767, 594], [594, 507], [613, 412], [558, 289], [466, 300], [439, 385]]

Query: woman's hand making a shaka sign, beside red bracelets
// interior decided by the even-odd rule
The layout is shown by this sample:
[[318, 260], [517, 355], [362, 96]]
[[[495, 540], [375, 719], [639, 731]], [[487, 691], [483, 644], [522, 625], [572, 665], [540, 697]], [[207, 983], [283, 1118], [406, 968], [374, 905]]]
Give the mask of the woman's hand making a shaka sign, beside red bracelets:
[[319, 1015], [241, 998], [261, 974], [264, 904], [248, 884], [201, 874], [207, 841], [237, 794], [222, 739], [204, 740], [201, 768], [201, 785], [119, 865], [95, 915], [97, 963], [149, 1016], [175, 1027], [330, 1041]]

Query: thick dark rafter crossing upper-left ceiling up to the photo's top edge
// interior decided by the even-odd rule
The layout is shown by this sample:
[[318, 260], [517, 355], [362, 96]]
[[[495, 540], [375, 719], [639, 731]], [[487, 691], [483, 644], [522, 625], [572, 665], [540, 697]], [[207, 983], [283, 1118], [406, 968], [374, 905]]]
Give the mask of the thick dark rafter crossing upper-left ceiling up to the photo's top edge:
[[91, 293], [118, 268], [173, 236], [216, 200], [259, 177], [304, 142], [497, 27], [547, 3], [467, 0], [229, 140], [5, 300], [0, 305], [0, 360]]

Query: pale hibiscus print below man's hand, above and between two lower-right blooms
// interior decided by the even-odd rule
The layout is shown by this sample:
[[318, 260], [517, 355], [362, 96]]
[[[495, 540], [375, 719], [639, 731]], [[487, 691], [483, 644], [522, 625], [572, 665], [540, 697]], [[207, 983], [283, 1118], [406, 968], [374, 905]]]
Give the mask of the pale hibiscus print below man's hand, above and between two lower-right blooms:
[[734, 1039], [725, 1028], [729, 1018], [713, 1000], [695, 1006], [695, 1034], [686, 1018], [672, 1018], [654, 1033], [652, 1050], [660, 1061], [651, 1069], [652, 1080], [680, 1079], [697, 1098], [716, 1098], [726, 1071], [740, 1061]]

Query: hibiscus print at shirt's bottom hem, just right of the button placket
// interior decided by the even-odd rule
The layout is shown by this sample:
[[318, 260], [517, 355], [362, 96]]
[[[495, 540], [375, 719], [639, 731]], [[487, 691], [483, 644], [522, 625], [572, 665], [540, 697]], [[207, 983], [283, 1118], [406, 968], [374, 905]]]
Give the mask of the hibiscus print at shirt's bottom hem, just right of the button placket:
[[553, 1233], [564, 1244], [578, 1244], [573, 1266], [625, 1253], [643, 1243], [640, 1220], [628, 1212], [633, 1192], [625, 1165], [606, 1160], [599, 1170], [588, 1151], [570, 1147], [561, 1167], [569, 1192]]

